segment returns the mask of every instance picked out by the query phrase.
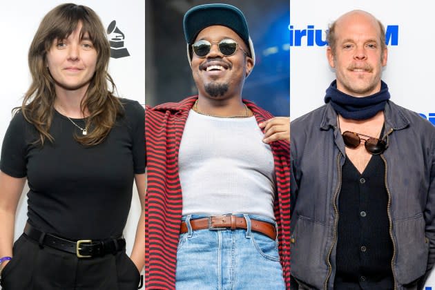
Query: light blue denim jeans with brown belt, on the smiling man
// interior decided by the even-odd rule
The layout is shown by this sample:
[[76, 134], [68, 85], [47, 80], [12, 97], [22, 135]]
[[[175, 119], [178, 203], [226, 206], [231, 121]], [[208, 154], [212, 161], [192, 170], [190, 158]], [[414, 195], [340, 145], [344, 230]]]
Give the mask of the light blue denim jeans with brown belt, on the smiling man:
[[192, 231], [190, 220], [206, 215], [186, 215], [188, 232], [180, 235], [177, 249], [177, 290], [281, 290], [285, 289], [276, 240], [251, 231], [251, 219], [276, 224], [258, 215], [240, 215], [248, 229]]

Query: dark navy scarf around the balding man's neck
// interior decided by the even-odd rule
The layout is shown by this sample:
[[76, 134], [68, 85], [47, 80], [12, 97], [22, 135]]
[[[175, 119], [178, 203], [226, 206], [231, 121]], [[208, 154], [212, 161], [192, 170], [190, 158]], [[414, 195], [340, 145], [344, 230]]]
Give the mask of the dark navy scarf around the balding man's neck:
[[388, 86], [380, 81], [380, 91], [367, 97], [352, 97], [337, 90], [337, 81], [333, 81], [326, 90], [325, 103], [331, 101], [336, 112], [345, 119], [363, 120], [384, 110], [389, 99]]

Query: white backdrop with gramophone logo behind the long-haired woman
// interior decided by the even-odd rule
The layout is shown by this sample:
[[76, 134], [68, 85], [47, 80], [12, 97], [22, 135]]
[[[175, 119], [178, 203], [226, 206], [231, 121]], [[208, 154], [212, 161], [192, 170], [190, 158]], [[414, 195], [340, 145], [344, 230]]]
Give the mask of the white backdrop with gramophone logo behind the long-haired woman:
[[[0, 45], [0, 141], [6, 133], [6, 128], [12, 117], [10, 111], [20, 106], [22, 97], [30, 84], [27, 53], [33, 35], [42, 17], [52, 8], [66, 1], [2, 1], [0, 28], [4, 36]], [[105, 28], [116, 20], [117, 28], [124, 35], [124, 47], [130, 56], [110, 59], [110, 75], [117, 85], [120, 97], [135, 99], [140, 104], [145, 103], [145, 2], [144, 0], [81, 0], [75, 2], [89, 6], [101, 18]], [[1, 146], [1, 142], [0, 142]], [[15, 239], [23, 232], [26, 223], [26, 193], [23, 191], [17, 211]], [[131, 212], [124, 235], [127, 240], [127, 253], [131, 253], [137, 220], [140, 215], [140, 203], [134, 189]], [[143, 278], [143, 276], [142, 276]], [[143, 287], [141, 289], [144, 289]]]

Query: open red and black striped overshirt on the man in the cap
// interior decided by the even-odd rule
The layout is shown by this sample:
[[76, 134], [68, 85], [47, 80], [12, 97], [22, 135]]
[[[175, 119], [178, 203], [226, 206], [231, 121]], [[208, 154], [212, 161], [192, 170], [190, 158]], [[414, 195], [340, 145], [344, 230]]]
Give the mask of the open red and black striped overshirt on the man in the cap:
[[[182, 218], [182, 189], [178, 175], [178, 150], [189, 110], [189, 97], [179, 103], [146, 107], [145, 137], [147, 189], [145, 197], [145, 287], [175, 289], [177, 244]], [[273, 117], [243, 100], [258, 123]], [[278, 223], [279, 252], [287, 289], [290, 287], [290, 153], [289, 143], [271, 144], [276, 172], [274, 211]]]

